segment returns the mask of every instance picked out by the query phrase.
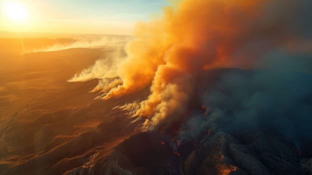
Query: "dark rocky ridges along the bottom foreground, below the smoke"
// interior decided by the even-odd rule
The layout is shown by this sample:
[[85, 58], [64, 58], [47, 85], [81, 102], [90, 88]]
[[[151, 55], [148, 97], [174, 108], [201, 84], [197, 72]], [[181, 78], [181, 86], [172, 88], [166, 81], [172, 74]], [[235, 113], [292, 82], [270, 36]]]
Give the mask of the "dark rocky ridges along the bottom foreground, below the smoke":
[[87, 165], [93, 154], [65, 174], [304, 174], [303, 155], [275, 136], [237, 139], [218, 131], [196, 142], [174, 145], [165, 134], [142, 132], [107, 157]]

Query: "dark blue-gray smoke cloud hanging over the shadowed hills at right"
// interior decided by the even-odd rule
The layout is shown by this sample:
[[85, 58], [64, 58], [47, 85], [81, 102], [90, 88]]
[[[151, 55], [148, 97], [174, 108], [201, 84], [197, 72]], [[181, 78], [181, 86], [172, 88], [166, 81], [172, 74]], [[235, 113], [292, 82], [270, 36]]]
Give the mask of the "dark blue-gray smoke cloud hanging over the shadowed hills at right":
[[181, 142], [208, 128], [227, 132], [280, 134], [303, 145], [312, 142], [312, 54], [274, 51], [252, 70], [206, 72], [193, 109], [178, 133]]

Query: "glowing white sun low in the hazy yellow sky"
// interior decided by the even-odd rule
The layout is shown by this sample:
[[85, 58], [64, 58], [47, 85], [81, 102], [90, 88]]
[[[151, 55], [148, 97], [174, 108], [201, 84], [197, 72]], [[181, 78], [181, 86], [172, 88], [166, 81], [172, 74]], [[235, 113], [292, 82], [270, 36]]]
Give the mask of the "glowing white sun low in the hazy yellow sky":
[[14, 21], [24, 21], [28, 17], [26, 8], [18, 2], [4, 4], [4, 13], [10, 20]]

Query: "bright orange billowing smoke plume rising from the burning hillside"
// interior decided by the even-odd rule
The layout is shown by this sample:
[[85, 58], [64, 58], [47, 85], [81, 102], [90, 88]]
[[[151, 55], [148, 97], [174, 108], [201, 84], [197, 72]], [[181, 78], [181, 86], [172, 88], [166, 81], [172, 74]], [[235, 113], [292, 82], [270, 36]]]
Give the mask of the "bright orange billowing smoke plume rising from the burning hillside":
[[[234, 11], [236, 3], [240, 15]], [[140, 103], [136, 115], [146, 117], [146, 129], [163, 121], [170, 123], [186, 109], [195, 73], [226, 61], [233, 46], [224, 40], [241, 30], [241, 15], [255, 15], [254, 4], [247, 0], [183, 0], [176, 10], [164, 8], [162, 18], [137, 24], [137, 37], [127, 44], [128, 57], [118, 70], [123, 84], [104, 98], [152, 82], [151, 94]]]

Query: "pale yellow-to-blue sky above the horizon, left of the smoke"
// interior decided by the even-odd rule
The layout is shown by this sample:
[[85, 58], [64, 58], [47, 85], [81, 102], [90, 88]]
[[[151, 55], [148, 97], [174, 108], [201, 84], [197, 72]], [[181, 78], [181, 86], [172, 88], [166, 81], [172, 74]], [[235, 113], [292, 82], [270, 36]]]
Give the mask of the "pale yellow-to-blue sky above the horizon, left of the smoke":
[[131, 34], [137, 21], [157, 15], [166, 4], [166, 0], [0, 0], [0, 30]]

